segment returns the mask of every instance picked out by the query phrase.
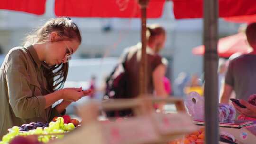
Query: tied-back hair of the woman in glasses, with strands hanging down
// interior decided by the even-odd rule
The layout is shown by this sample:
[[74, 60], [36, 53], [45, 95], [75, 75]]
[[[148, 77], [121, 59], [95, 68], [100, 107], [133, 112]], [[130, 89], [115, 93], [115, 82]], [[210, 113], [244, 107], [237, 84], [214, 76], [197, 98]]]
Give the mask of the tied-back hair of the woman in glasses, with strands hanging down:
[[[82, 38], [77, 25], [68, 17], [59, 17], [50, 19], [43, 26], [38, 27], [35, 31], [29, 34], [24, 44], [47, 43], [50, 41], [49, 36], [52, 32], [57, 32], [61, 37], [56, 41], [75, 39], [81, 43]], [[68, 62], [44, 67], [44, 75], [47, 79], [48, 88], [51, 92], [61, 89], [64, 86], [68, 74]]]

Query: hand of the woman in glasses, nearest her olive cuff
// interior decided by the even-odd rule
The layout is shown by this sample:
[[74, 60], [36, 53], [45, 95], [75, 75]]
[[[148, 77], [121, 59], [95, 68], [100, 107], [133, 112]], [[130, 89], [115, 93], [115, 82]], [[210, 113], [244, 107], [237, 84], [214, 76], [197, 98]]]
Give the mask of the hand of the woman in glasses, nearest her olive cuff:
[[84, 96], [84, 92], [81, 88], [64, 88], [60, 90], [61, 92], [61, 98], [66, 101], [77, 101], [81, 99]]

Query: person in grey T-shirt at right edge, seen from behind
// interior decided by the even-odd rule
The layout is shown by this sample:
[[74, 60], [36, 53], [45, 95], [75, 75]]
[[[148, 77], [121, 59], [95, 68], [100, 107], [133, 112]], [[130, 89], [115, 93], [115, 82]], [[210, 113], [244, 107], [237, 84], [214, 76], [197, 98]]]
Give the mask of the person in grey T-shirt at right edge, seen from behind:
[[256, 23], [249, 24], [245, 34], [252, 51], [230, 61], [220, 99], [221, 103], [229, 103], [233, 91], [237, 99], [243, 100], [247, 100], [250, 95], [256, 93]]

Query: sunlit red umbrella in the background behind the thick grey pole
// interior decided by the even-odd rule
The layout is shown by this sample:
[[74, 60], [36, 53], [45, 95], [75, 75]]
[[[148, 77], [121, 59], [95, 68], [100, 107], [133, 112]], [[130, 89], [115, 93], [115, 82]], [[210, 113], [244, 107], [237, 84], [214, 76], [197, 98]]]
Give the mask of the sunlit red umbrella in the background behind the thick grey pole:
[[[236, 52], [245, 54], [250, 50], [251, 48], [246, 43], [246, 36], [244, 33], [220, 38], [218, 41], [217, 51], [220, 57], [230, 57]], [[196, 55], [203, 55], [204, 45], [193, 48], [192, 53]]]

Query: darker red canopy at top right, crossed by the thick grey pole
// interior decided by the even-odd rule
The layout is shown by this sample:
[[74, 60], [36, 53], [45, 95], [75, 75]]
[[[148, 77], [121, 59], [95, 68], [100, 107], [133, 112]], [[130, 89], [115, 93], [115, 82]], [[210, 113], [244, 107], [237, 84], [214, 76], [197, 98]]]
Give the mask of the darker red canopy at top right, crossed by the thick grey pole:
[[[174, 16], [181, 18], [202, 18], [203, 0], [173, 0]], [[219, 17], [256, 14], [256, 0], [219, 0]]]

